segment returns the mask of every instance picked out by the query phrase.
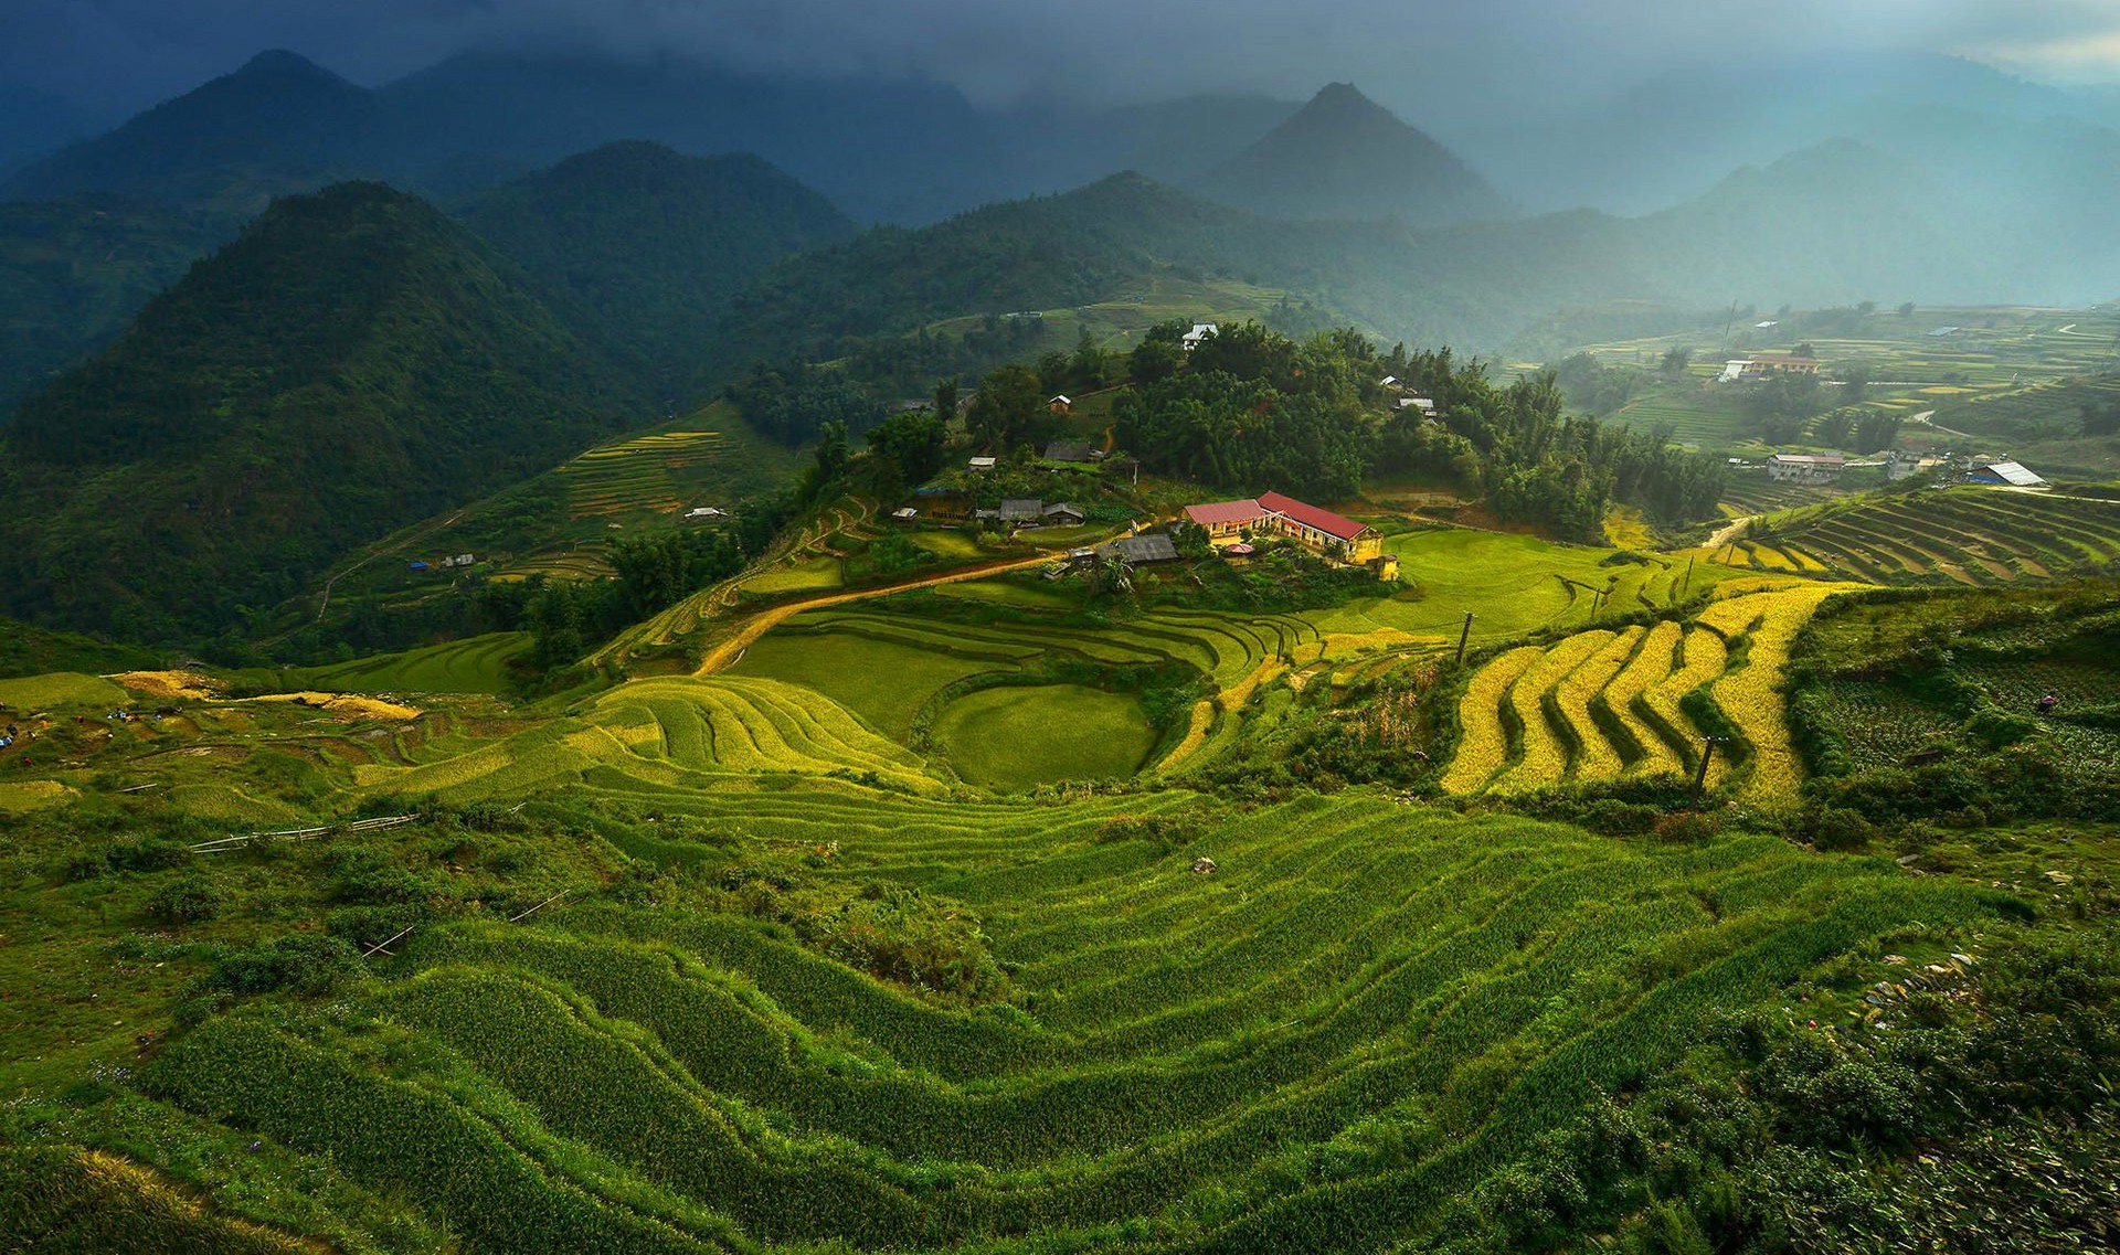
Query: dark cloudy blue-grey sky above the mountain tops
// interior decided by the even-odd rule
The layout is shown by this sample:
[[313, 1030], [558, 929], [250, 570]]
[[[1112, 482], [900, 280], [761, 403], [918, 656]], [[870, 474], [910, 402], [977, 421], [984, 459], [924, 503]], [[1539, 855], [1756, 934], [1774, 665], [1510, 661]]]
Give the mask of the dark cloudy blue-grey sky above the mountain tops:
[[918, 74], [986, 104], [1355, 81], [1401, 108], [1539, 110], [1821, 49], [2120, 83], [2120, 0], [0, 0], [0, 83], [98, 112], [267, 47], [373, 85], [492, 45]]

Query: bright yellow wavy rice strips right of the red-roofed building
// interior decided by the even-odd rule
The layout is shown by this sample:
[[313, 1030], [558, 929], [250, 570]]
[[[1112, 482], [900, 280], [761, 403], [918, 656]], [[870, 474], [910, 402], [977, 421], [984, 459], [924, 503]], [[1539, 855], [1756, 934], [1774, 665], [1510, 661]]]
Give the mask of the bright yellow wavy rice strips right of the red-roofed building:
[[1662, 621], [1579, 632], [1550, 649], [1503, 653], [1459, 700], [1463, 736], [1444, 789], [1520, 793], [1692, 772], [1702, 733], [1683, 702], [1700, 693], [1743, 736], [1711, 761], [1711, 780], [1724, 780], [1736, 755], [1745, 797], [1785, 803], [1802, 782], [1779, 691], [1789, 642], [1819, 602], [1847, 587], [1732, 587], [1734, 596], [1700, 611], [1690, 628]]

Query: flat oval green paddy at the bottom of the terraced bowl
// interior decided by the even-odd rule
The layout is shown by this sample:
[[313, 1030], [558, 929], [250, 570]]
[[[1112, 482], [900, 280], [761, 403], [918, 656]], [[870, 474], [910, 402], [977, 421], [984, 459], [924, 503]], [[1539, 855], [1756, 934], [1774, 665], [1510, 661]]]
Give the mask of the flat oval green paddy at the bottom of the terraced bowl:
[[935, 742], [973, 784], [1028, 789], [1052, 780], [1132, 776], [1149, 748], [1141, 700], [1081, 685], [982, 689], [950, 702]]

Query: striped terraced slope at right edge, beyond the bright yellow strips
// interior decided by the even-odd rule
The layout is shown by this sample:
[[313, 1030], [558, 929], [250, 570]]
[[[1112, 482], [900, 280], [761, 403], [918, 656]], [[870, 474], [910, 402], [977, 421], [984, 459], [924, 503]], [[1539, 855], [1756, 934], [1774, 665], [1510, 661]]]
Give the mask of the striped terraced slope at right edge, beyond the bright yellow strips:
[[[2003, 585], [2073, 575], [2120, 560], [2120, 502], [1953, 488], [1868, 498], [1849, 509], [1768, 519], [1762, 551], [1804, 570], [1866, 583]], [[1736, 564], [1747, 553], [1730, 555]]]

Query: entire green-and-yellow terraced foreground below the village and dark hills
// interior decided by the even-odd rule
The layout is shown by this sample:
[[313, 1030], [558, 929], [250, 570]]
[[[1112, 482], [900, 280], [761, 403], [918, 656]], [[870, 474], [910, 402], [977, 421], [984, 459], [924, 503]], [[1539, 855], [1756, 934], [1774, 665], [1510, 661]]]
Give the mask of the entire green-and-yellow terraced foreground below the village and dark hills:
[[2109, 1194], [2105, 1115], [2010, 1132], [2120, 1064], [2090, 585], [1397, 524], [1312, 608], [948, 532], [757, 587], [886, 534], [534, 702], [519, 636], [0, 680], [0, 1247], [1823, 1253]]

